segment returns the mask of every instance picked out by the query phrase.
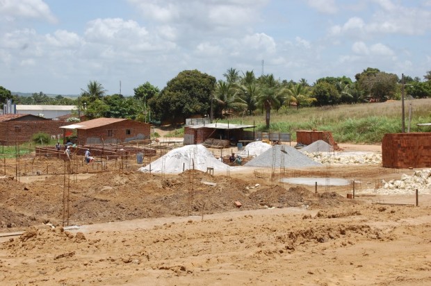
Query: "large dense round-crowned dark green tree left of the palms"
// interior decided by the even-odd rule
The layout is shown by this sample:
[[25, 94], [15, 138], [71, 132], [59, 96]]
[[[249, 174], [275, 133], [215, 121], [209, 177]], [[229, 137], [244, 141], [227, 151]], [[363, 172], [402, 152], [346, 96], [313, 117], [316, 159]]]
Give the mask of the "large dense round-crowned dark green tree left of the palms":
[[215, 88], [215, 77], [197, 69], [180, 72], [148, 101], [156, 117], [184, 122], [193, 115], [208, 115]]

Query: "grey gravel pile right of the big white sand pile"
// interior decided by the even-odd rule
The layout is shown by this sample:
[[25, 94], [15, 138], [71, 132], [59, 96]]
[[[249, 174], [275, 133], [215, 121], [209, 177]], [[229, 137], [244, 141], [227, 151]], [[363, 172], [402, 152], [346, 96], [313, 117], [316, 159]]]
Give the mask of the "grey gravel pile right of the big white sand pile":
[[319, 162], [315, 162], [295, 148], [285, 145], [275, 145], [245, 164], [249, 167], [312, 167], [320, 165]]

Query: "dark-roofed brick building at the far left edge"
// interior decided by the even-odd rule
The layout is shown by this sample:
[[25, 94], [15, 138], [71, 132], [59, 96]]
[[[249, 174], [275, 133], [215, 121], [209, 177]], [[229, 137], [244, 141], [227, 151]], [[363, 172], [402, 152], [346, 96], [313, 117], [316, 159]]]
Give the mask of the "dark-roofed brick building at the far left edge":
[[63, 134], [60, 126], [64, 121], [54, 121], [35, 115], [7, 114], [0, 115], [0, 144], [21, 144], [31, 140], [33, 134], [42, 132], [58, 137]]

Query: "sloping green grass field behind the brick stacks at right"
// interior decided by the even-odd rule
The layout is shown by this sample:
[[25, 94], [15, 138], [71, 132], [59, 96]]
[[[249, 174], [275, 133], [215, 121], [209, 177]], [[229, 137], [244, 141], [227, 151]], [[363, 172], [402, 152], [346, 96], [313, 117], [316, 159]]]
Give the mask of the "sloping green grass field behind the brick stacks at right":
[[[313, 108], [281, 108], [273, 110], [270, 131], [291, 133], [312, 130], [331, 131], [336, 142], [375, 144], [382, 142], [385, 133], [402, 132], [401, 101], [361, 103], [343, 106]], [[220, 122], [227, 122], [222, 120]], [[233, 124], [255, 124], [257, 130], [266, 130], [263, 113], [254, 116], [231, 117]], [[431, 128], [418, 130], [416, 124], [431, 122], [431, 99], [405, 100], [405, 132], [431, 132]]]

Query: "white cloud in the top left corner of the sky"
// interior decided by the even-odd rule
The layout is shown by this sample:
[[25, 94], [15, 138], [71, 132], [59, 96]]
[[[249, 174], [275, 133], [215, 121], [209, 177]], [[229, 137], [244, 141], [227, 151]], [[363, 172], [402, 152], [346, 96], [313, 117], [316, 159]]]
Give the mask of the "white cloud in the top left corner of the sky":
[[42, 0], [0, 0], [0, 15], [15, 18], [47, 19], [49, 22], [57, 22], [52, 15], [49, 6]]

